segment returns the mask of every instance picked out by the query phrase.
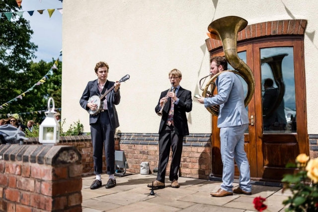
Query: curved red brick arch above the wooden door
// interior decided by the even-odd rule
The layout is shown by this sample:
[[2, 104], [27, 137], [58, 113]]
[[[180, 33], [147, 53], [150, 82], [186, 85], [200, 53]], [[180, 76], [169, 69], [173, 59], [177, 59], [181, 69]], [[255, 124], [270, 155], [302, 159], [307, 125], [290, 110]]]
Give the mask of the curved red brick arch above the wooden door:
[[[306, 25], [307, 20], [304, 19], [277, 20], [251, 24], [238, 33], [238, 41], [273, 36], [304, 35]], [[212, 38], [206, 39], [205, 43], [209, 52], [222, 47], [221, 41]]]

